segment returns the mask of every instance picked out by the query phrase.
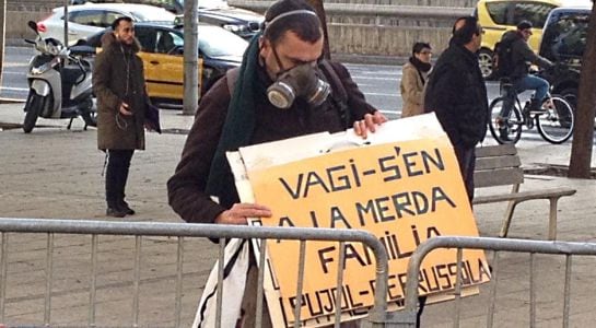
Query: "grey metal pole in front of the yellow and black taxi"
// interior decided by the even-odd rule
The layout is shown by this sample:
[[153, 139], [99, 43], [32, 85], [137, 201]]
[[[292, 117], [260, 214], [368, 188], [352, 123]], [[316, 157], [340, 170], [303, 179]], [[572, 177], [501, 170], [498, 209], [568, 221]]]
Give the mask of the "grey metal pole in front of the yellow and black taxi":
[[199, 104], [198, 0], [184, 2], [184, 99], [183, 115], [195, 115]]

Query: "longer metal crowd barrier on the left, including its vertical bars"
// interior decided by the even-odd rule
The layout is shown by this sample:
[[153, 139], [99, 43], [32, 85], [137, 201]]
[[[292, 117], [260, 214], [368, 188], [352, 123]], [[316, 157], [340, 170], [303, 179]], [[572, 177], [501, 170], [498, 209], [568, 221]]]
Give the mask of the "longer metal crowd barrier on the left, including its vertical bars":
[[[133, 294], [131, 326], [139, 327], [139, 289], [141, 272], [141, 242], [145, 236], [168, 236], [177, 237], [176, 259], [176, 296], [175, 296], [175, 327], [180, 327], [180, 298], [183, 294], [183, 253], [184, 237], [211, 237], [219, 238], [220, 277], [223, 279], [223, 255], [225, 239], [232, 237], [259, 238], [261, 255], [265, 254], [266, 239], [294, 239], [300, 241], [301, 255], [299, 270], [304, 271], [304, 248], [308, 241], [332, 241], [339, 243], [339, 249], [343, 249], [346, 242], [362, 243], [369, 246], [376, 260], [376, 289], [374, 307], [369, 312], [371, 327], [385, 327], [386, 297], [387, 294], [387, 253], [379, 241], [372, 234], [357, 230], [340, 229], [300, 229], [300, 227], [256, 227], [217, 224], [188, 224], [188, 223], [157, 223], [157, 222], [106, 222], [106, 221], [83, 221], [83, 220], [46, 220], [46, 219], [12, 219], [0, 218], [0, 324], [5, 323], [5, 291], [9, 266], [9, 235], [11, 233], [40, 233], [47, 234], [46, 268], [45, 268], [45, 301], [44, 301], [44, 325], [50, 327], [51, 323], [51, 297], [54, 281], [54, 238], [55, 234], [83, 234], [91, 235], [91, 259], [90, 259], [90, 288], [89, 288], [89, 315], [87, 326], [96, 326], [96, 278], [97, 278], [97, 236], [98, 235], [126, 235], [135, 236], [135, 268], [133, 268]], [[262, 262], [261, 257], [261, 262]], [[343, 257], [338, 260], [338, 268], [343, 267]], [[338, 270], [338, 285], [342, 281], [342, 271]], [[259, 267], [259, 290], [262, 290], [262, 266]], [[301, 304], [302, 284], [296, 282], [297, 302]], [[341, 289], [337, 289], [339, 295], [336, 297], [336, 318], [339, 317], [341, 308]], [[218, 300], [221, 302], [221, 291], [218, 289]], [[262, 313], [262, 293], [257, 293], [257, 314]], [[218, 304], [218, 318], [221, 318], [221, 303]], [[300, 325], [300, 311], [295, 311], [296, 320], [294, 327]], [[259, 316], [257, 315], [257, 320]], [[217, 320], [218, 323], [220, 320]], [[219, 325], [218, 325], [219, 326]], [[339, 327], [339, 323], [336, 323]]]

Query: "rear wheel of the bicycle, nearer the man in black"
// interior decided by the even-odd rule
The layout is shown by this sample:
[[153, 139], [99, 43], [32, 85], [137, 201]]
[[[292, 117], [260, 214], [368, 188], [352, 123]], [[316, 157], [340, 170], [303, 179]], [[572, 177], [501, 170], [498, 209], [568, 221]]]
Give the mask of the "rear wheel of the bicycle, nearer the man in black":
[[519, 107], [519, 102], [514, 101], [513, 110], [511, 110], [510, 117], [503, 118], [501, 117], [503, 97], [498, 97], [490, 104], [489, 128], [492, 138], [500, 144], [516, 143], [522, 137], [524, 119], [522, 118], [522, 109]]

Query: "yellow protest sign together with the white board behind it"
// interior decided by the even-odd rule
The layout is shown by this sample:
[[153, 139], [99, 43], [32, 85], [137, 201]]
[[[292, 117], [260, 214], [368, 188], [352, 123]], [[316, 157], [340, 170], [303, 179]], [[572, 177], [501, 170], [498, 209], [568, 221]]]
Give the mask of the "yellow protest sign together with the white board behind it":
[[[394, 311], [402, 306], [407, 262], [417, 245], [437, 235], [478, 235], [453, 149], [433, 114], [386, 122], [366, 141], [351, 131], [323, 132], [241, 148], [227, 157], [242, 201], [273, 212], [252, 224], [375, 234], [389, 257], [387, 300]], [[306, 243], [302, 327], [334, 323], [338, 245]], [[269, 241], [267, 248], [262, 265], [271, 320], [291, 326], [299, 242]], [[344, 256], [341, 320], [349, 320], [373, 304], [375, 263], [359, 243], [347, 243]], [[465, 250], [463, 268], [464, 295], [478, 293], [476, 285], [490, 278], [483, 253]], [[432, 251], [418, 280], [429, 302], [451, 298], [444, 292], [455, 285], [455, 250]]]

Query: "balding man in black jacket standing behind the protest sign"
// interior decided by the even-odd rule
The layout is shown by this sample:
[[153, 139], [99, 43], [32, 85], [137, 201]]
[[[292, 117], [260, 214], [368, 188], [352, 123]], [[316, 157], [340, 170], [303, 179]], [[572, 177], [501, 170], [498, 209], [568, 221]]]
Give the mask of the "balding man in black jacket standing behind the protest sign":
[[489, 113], [487, 87], [476, 55], [481, 40], [482, 27], [478, 19], [457, 19], [449, 47], [439, 57], [424, 96], [424, 110], [436, 114], [449, 137], [470, 202], [474, 198], [475, 148], [487, 134]]

